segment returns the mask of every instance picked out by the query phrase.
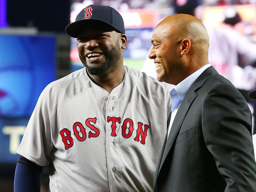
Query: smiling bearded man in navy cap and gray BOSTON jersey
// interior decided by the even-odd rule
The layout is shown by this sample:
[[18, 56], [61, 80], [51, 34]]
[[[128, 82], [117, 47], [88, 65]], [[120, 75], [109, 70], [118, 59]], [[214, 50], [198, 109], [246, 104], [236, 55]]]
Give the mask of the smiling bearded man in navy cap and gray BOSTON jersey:
[[50, 191], [152, 192], [173, 86], [123, 65], [127, 36], [112, 7], [89, 5], [66, 32], [85, 67], [41, 93], [17, 150], [14, 191], [40, 191], [49, 163]]

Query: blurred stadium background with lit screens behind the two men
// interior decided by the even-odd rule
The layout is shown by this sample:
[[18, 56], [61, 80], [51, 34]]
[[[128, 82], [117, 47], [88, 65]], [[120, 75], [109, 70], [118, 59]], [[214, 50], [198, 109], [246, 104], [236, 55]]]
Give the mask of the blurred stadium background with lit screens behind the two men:
[[[256, 88], [256, 0], [0, 0], [0, 192], [13, 191], [20, 144], [39, 94], [83, 67], [65, 27], [90, 4], [122, 15], [128, 36], [124, 64], [156, 77], [148, 59], [154, 27], [168, 15], [200, 19], [209, 33], [209, 62], [243, 94], [253, 113]], [[47, 167], [41, 191], [49, 191]]]

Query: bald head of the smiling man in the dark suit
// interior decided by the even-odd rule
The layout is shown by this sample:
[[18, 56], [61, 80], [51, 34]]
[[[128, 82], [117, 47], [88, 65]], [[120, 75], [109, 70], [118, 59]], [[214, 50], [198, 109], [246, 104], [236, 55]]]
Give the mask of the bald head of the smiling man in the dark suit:
[[187, 14], [171, 15], [155, 28], [149, 58], [154, 59], [157, 79], [178, 84], [208, 64], [209, 36], [202, 22]]

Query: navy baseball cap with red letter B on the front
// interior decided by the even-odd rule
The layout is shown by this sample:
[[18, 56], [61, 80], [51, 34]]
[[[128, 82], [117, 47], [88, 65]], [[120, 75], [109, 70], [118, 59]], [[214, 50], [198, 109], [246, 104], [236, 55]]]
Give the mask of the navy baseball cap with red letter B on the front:
[[90, 27], [87, 25], [88, 21], [101, 21], [125, 34], [124, 21], [120, 13], [114, 8], [104, 5], [89, 5], [84, 8], [76, 16], [76, 21], [66, 27], [66, 33], [76, 38], [81, 28]]

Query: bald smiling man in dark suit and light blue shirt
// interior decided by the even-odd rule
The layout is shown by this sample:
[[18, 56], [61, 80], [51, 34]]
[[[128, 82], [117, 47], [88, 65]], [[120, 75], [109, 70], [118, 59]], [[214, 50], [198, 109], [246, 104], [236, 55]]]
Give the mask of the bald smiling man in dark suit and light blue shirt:
[[251, 112], [209, 64], [208, 47], [204, 25], [190, 15], [171, 15], [154, 30], [157, 79], [175, 85], [155, 192], [256, 191]]

